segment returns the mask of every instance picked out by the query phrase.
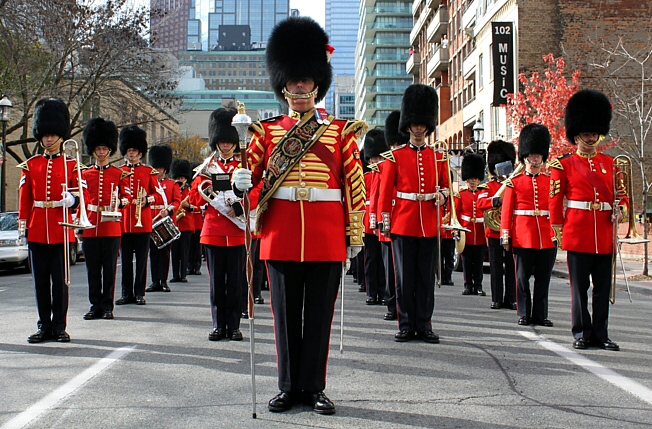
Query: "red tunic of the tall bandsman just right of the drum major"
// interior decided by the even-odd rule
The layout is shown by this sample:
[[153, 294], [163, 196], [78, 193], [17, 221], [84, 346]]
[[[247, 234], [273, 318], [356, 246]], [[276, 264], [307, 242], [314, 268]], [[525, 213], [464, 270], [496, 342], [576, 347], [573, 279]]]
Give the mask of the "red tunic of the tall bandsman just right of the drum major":
[[[443, 154], [437, 152], [435, 155], [429, 146], [418, 148], [409, 143], [383, 156], [387, 161], [382, 170], [379, 208], [381, 214], [390, 214], [391, 233], [436, 237], [439, 231], [433, 194], [438, 189], [446, 190], [449, 187], [448, 168]], [[403, 198], [401, 194], [412, 195], [415, 200]]]

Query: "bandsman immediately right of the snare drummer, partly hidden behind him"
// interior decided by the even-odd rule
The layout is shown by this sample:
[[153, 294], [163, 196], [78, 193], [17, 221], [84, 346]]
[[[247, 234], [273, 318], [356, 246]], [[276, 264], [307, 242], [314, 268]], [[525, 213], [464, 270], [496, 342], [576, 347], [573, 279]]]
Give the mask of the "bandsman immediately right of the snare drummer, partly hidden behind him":
[[176, 211], [175, 221], [181, 237], [172, 242], [172, 279], [170, 282], [180, 281], [187, 283], [186, 273], [188, 272], [188, 258], [190, 252], [190, 240], [195, 231], [193, 207], [190, 204], [190, 183], [192, 170], [190, 163], [185, 159], [175, 159], [172, 162], [172, 179], [177, 182], [176, 188], [181, 192], [180, 206]]

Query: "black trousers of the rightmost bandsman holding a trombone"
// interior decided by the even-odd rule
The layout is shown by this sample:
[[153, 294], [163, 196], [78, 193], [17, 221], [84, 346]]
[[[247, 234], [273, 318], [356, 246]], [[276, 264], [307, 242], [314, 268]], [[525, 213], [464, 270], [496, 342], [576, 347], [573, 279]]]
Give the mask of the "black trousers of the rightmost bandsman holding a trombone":
[[[609, 289], [611, 254], [566, 252], [571, 284], [571, 332], [575, 339], [609, 339]], [[588, 306], [588, 290], [593, 282], [591, 301], [593, 323]]]

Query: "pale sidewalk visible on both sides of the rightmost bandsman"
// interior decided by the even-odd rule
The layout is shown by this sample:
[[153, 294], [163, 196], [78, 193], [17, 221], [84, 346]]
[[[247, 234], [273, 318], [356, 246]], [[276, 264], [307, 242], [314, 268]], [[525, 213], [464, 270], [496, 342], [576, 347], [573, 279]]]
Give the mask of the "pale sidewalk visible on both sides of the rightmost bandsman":
[[[629, 290], [631, 293], [652, 296], [652, 278], [650, 278], [650, 280], [632, 280], [632, 278], [639, 279], [642, 277], [641, 273], [643, 272], [643, 257], [639, 255], [623, 254], [623, 264], [625, 265], [625, 271], [627, 272]], [[652, 273], [652, 263], [648, 264], [648, 270], [650, 273]], [[555, 267], [552, 269], [552, 274], [557, 277], [568, 278], [568, 267], [566, 266], [565, 250], [557, 251], [557, 259], [555, 261]], [[616, 287], [619, 291], [616, 299], [628, 299], [627, 287], [625, 285], [625, 279], [623, 278], [620, 258], [616, 261]]]

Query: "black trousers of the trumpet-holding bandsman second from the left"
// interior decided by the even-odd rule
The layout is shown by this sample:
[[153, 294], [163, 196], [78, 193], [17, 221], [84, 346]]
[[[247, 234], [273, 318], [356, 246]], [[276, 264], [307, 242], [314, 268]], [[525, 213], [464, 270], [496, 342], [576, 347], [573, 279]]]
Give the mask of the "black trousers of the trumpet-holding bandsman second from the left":
[[113, 311], [120, 237], [84, 237], [88, 300], [94, 313]]

